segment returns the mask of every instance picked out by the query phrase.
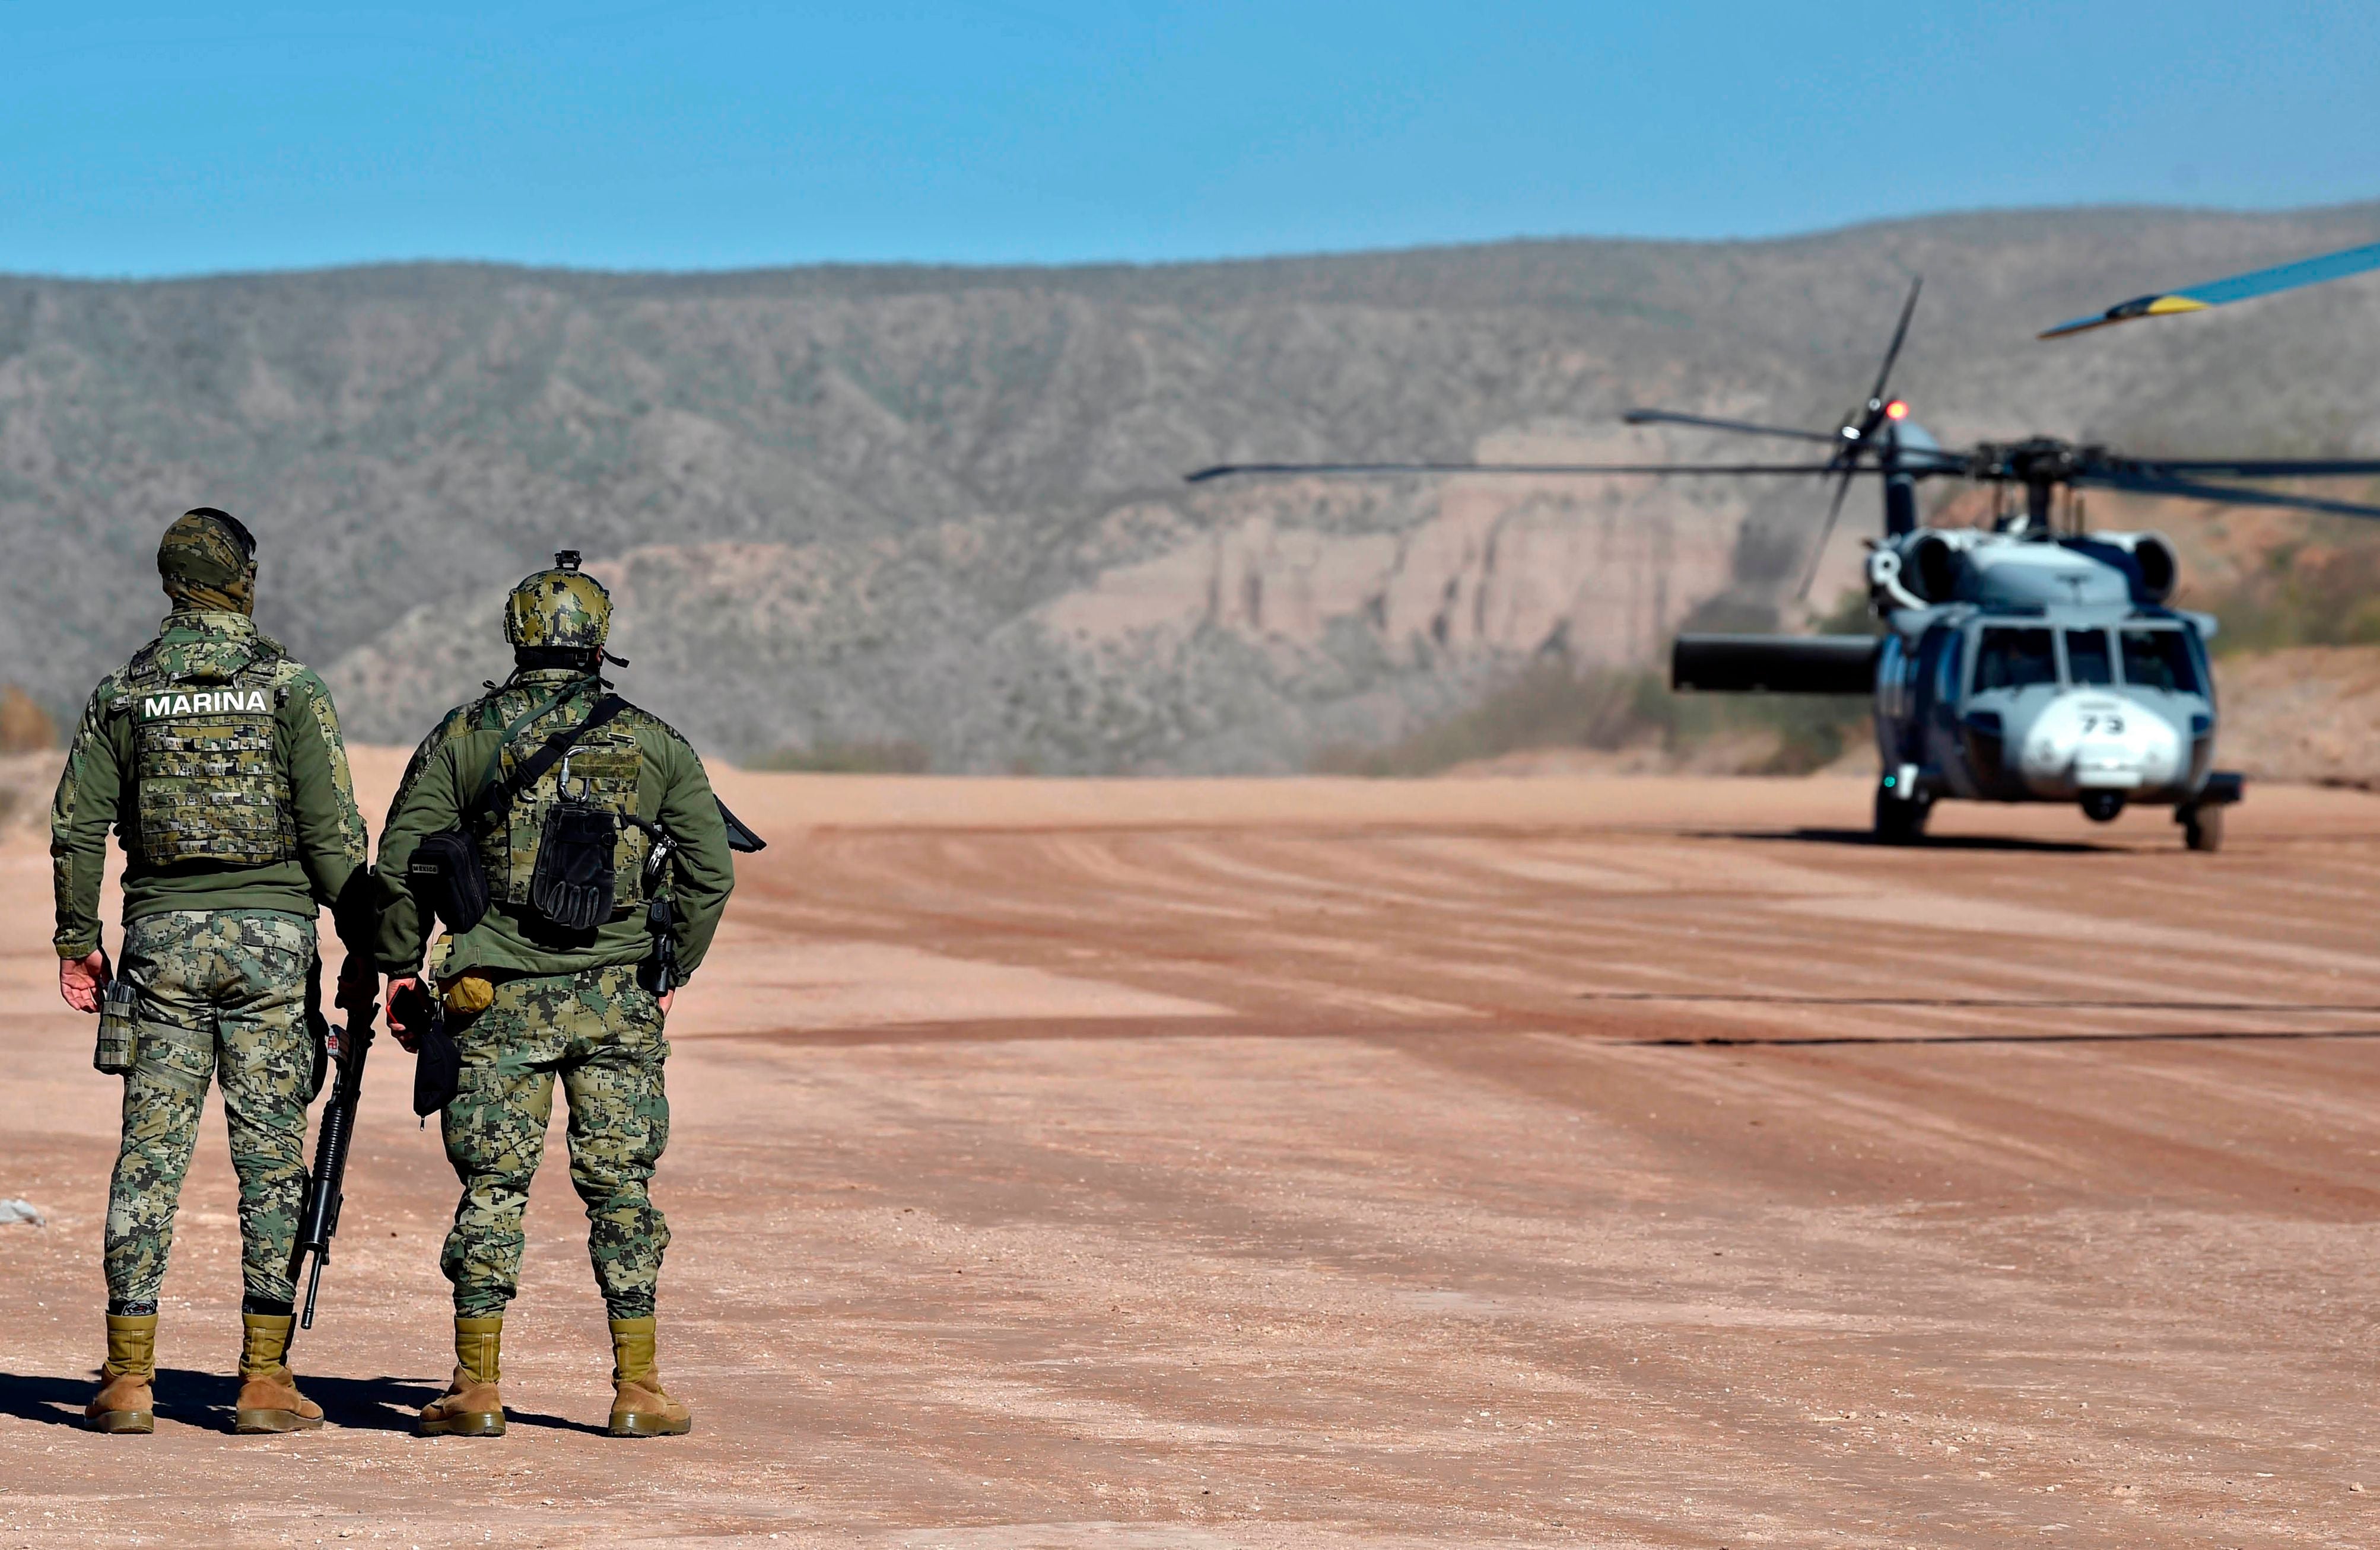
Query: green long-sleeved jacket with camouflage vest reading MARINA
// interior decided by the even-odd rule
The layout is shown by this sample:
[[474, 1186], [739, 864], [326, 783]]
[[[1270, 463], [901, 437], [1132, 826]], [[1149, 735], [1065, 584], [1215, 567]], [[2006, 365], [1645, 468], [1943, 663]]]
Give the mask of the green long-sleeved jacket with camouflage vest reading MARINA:
[[100, 945], [107, 833], [124, 919], [169, 910], [338, 917], [371, 943], [364, 817], [331, 690], [245, 614], [174, 610], [100, 679], [50, 802], [57, 955]]

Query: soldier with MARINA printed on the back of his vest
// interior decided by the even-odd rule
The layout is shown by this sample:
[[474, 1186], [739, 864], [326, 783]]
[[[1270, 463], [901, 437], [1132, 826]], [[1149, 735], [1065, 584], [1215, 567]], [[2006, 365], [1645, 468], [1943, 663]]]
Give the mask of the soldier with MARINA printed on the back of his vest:
[[[305, 1195], [305, 1112], [321, 1019], [317, 907], [347, 969], [340, 1005], [371, 1010], [364, 821], [331, 690], [250, 621], [255, 538], [200, 507], [167, 529], [157, 571], [174, 607], [155, 640], [100, 681], [50, 807], [57, 983], [129, 1036], [124, 1143], [107, 1193], [107, 1364], [86, 1419], [150, 1431], [157, 1290], [207, 1083], [224, 1088], [240, 1179], [240, 1431], [321, 1426], [288, 1369], [290, 1248]], [[100, 948], [107, 831], [124, 840], [124, 964]]]

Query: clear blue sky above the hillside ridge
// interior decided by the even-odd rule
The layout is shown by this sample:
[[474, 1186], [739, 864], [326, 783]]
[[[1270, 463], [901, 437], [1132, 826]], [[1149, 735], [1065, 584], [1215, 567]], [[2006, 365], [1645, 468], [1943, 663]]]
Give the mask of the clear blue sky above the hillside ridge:
[[0, 0], [0, 271], [1073, 262], [2380, 195], [2380, 5]]

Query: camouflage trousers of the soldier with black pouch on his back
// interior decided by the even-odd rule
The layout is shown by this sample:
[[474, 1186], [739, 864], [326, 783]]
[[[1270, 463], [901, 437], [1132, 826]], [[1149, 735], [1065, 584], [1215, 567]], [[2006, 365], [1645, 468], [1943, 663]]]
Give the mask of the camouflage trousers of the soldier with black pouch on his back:
[[588, 1260], [614, 1319], [652, 1314], [669, 1224], [647, 1183], [669, 1145], [662, 1005], [633, 967], [512, 979], [452, 1029], [462, 1081], [445, 1107], [462, 1202], [440, 1269], [455, 1314], [505, 1312], [521, 1281], [521, 1214], [545, 1152], [555, 1079], [569, 1100], [571, 1183], [588, 1207]]

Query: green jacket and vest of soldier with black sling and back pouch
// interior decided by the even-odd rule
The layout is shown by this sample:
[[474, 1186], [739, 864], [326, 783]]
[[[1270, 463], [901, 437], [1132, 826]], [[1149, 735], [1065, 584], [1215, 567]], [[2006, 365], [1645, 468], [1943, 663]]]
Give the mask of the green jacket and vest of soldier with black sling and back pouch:
[[[414, 845], [428, 833], [455, 829], [490, 781], [509, 776], [547, 736], [585, 721], [605, 693], [600, 679], [576, 669], [524, 669], [486, 698], [447, 712], [438, 731], [421, 740], [381, 829], [381, 971], [412, 974], [428, 948], [431, 917], [405, 879]], [[702, 760], [666, 721], [635, 707], [590, 733], [564, 764], [521, 790], [507, 814], [474, 824], [471, 838], [488, 869], [490, 910], [455, 938], [440, 974], [576, 974], [635, 964], [652, 952], [645, 910], [638, 907], [645, 900], [640, 871], [650, 840], [635, 826], [621, 826], [616, 910], [609, 921], [583, 933], [557, 933], [528, 907], [538, 829], [564, 776], [574, 800], [662, 824], [676, 836], [678, 852], [666, 886], [676, 905], [678, 981], [693, 979], [719, 929], [728, 890], [735, 888], [735, 864]]]

